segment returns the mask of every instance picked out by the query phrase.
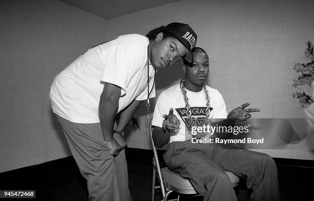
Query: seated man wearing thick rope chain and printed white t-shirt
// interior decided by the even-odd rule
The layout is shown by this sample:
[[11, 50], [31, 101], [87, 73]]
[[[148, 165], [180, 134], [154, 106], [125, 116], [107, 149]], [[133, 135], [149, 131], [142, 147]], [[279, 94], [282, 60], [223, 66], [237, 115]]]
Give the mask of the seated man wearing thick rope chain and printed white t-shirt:
[[229, 126], [248, 119], [249, 112], [260, 111], [244, 109], [249, 104], [243, 104], [227, 114], [222, 95], [205, 84], [208, 55], [202, 48], [192, 54], [192, 64], [184, 62], [185, 78], [160, 94], [153, 114], [155, 146], [170, 144], [164, 154], [168, 168], [189, 179], [204, 200], [237, 200], [224, 170], [246, 179], [252, 200], [279, 200], [277, 166], [269, 155], [223, 144], [192, 143], [192, 137], [204, 136], [191, 135], [192, 126], [202, 121], [208, 125], [216, 119], [215, 125]]

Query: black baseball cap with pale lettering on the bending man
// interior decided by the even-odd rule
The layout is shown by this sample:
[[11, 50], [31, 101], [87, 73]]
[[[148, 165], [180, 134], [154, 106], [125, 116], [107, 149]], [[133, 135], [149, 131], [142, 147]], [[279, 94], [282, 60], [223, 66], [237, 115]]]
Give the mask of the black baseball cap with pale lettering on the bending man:
[[191, 63], [193, 59], [191, 50], [196, 45], [197, 34], [188, 24], [183, 23], [170, 23], [166, 28], [187, 48], [184, 59]]

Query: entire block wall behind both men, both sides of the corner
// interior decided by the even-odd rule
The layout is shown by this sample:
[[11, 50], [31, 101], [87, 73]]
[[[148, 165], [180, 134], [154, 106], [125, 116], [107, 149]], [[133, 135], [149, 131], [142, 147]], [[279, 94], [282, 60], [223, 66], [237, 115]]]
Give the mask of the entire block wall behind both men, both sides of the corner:
[[[169, 22], [197, 31], [210, 58], [208, 84], [223, 94], [228, 111], [251, 102], [262, 109], [254, 117], [304, 117], [290, 85], [293, 64], [306, 62], [305, 42], [314, 42], [313, 7], [310, 0], [190, 0], [106, 21], [55, 0], [0, 1], [0, 172], [70, 155], [49, 105], [58, 72], [94, 44]], [[181, 65], [159, 71], [157, 95], [184, 76]], [[143, 103], [135, 115], [141, 130], [130, 131], [129, 147], [150, 149], [145, 114]], [[285, 150], [262, 151], [314, 159], [313, 146], [307, 135]]]

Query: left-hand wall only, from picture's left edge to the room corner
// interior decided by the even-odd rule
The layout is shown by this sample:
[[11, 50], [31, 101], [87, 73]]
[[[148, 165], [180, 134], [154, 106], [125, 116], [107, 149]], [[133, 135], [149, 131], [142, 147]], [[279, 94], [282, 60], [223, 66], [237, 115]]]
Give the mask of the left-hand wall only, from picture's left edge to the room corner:
[[0, 1], [0, 172], [70, 155], [51, 113], [54, 76], [107, 39], [107, 21], [54, 0]]

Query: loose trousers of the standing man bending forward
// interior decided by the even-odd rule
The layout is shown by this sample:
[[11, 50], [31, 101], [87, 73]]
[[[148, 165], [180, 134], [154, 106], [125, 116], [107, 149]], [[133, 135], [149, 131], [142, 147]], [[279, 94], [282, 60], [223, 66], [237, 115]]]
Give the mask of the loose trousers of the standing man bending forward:
[[109, 154], [100, 123], [76, 124], [56, 115], [81, 174], [87, 180], [89, 201], [129, 201], [124, 150]]

